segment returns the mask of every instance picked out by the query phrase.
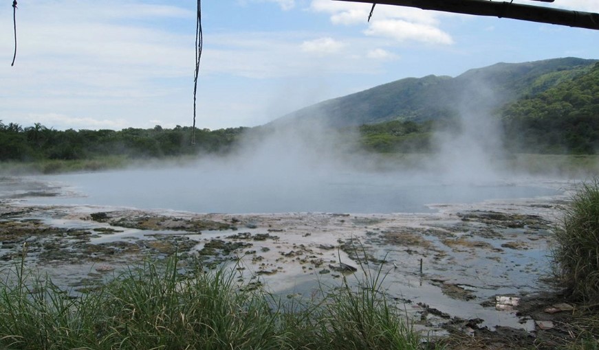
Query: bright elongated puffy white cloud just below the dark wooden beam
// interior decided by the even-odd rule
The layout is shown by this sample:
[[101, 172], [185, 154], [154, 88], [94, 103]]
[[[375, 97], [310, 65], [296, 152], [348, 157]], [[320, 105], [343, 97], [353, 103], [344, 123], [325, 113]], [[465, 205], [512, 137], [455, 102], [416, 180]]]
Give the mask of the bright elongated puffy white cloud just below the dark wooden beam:
[[413, 40], [427, 44], [453, 44], [451, 36], [437, 27], [402, 20], [373, 21], [364, 33], [369, 36], [393, 38], [400, 42]]

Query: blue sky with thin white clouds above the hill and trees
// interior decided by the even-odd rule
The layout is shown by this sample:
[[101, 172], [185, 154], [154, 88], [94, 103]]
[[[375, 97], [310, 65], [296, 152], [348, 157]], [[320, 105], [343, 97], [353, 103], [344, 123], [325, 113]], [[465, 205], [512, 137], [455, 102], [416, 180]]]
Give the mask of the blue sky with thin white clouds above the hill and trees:
[[[0, 8], [0, 120], [64, 130], [190, 126], [195, 1]], [[599, 12], [597, 0], [514, 3]], [[497, 62], [599, 58], [599, 31], [334, 0], [204, 0], [199, 128], [256, 126], [378, 84]]]

